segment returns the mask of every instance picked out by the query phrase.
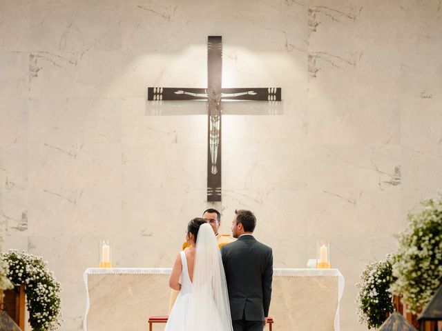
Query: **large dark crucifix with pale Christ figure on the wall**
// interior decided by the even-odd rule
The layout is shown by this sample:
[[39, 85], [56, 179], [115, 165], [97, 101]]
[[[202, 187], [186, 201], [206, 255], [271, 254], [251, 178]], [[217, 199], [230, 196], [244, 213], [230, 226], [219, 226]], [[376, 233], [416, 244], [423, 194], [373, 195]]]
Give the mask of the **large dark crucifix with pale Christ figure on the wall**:
[[280, 88], [222, 88], [222, 38], [207, 42], [207, 88], [148, 88], [148, 101], [206, 100], [207, 201], [221, 201], [221, 101], [281, 101]]

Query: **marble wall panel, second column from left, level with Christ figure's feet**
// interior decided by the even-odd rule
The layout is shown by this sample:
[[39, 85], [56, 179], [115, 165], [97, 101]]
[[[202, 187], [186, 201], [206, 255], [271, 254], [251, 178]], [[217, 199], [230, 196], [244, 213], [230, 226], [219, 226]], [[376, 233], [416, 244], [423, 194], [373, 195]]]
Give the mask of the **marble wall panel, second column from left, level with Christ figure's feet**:
[[35, 143], [29, 146], [31, 188], [56, 191], [91, 188], [117, 190], [122, 185], [119, 143]]

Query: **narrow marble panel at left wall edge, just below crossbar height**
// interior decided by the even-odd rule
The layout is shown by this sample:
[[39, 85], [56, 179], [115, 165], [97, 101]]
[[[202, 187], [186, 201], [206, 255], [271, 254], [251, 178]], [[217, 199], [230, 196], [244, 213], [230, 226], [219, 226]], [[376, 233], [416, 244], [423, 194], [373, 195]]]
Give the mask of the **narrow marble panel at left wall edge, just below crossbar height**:
[[4, 97], [0, 103], [0, 144], [28, 142], [28, 98]]

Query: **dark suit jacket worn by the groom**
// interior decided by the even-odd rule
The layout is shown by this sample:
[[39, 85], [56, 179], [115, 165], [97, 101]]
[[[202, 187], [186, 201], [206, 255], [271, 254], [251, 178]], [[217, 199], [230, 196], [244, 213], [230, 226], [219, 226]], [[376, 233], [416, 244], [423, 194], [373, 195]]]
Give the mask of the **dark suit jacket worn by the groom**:
[[264, 321], [269, 316], [273, 254], [251, 235], [221, 248], [232, 320]]

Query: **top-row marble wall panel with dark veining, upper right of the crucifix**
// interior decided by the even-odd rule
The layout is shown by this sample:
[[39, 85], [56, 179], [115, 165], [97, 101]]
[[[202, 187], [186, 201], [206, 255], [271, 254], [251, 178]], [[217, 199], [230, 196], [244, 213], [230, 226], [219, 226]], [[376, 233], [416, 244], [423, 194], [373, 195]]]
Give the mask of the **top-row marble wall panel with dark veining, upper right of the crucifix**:
[[397, 48], [398, 31], [401, 29], [400, 2], [311, 1], [309, 50], [351, 52]]

